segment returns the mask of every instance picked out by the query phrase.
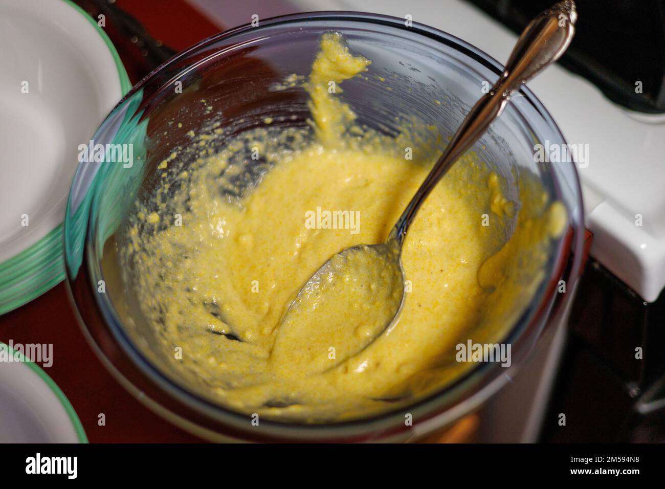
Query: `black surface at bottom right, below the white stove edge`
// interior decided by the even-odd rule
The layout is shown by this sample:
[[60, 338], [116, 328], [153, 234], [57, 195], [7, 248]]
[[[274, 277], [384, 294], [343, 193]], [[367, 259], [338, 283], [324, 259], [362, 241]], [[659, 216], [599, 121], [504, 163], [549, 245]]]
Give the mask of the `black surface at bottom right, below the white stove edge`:
[[[636, 358], [636, 348], [642, 358]], [[590, 260], [543, 426], [546, 442], [665, 442], [665, 293], [646, 303]]]

